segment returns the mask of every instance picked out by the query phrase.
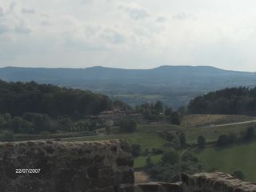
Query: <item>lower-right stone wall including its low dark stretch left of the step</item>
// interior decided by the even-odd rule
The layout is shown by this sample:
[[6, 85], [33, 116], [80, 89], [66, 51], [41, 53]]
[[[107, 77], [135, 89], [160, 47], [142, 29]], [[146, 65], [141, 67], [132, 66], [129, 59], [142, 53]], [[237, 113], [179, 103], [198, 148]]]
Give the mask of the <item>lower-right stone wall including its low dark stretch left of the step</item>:
[[256, 192], [256, 184], [222, 172], [182, 174], [182, 182], [150, 182], [135, 186], [135, 192]]

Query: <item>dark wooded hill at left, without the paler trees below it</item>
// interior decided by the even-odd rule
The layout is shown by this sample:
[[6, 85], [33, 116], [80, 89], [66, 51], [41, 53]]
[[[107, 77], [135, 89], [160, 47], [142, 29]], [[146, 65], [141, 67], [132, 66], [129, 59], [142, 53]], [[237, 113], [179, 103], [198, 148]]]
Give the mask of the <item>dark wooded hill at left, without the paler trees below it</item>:
[[36, 112], [54, 116], [84, 116], [109, 109], [107, 96], [50, 84], [0, 81], [0, 113], [22, 116]]

